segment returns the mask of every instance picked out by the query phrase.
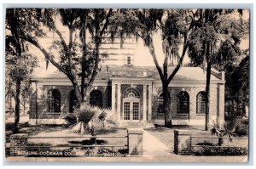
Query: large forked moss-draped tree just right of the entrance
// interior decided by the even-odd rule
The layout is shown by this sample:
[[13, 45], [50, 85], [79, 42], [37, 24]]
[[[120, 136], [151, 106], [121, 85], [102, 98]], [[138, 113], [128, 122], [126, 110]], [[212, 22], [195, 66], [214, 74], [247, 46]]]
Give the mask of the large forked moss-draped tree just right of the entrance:
[[[116, 24], [111, 26], [111, 31], [113, 34], [119, 32], [121, 42], [122, 38], [131, 36], [143, 39], [162, 82], [165, 126], [172, 126], [171, 96], [168, 86], [183, 64], [192, 29], [201, 21], [198, 10], [120, 9], [113, 21]], [[154, 35], [159, 33], [165, 54], [163, 65], [159, 64], [160, 57], [157, 56], [154, 48]]]

